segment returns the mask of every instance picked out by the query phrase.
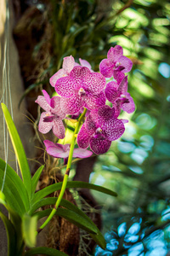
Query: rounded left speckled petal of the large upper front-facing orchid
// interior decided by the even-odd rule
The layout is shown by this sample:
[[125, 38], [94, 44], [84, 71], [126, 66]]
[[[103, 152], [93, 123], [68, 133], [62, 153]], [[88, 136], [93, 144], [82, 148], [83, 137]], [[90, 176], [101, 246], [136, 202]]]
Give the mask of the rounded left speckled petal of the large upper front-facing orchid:
[[77, 81], [71, 77], [65, 77], [57, 80], [55, 90], [60, 96], [70, 98], [77, 89]]

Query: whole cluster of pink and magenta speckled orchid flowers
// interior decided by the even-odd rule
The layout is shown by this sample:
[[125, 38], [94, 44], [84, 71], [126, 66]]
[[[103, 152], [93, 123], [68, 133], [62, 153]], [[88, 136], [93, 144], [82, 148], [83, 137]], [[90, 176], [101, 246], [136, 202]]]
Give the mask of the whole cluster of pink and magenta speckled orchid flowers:
[[[63, 119], [79, 117], [86, 112], [82, 127], [77, 132], [78, 148], [73, 157], [85, 158], [91, 154], [105, 154], [111, 142], [122, 137], [126, 119], [118, 119], [121, 110], [133, 113], [133, 98], [127, 92], [127, 75], [133, 63], [123, 55], [120, 45], [111, 47], [107, 58], [99, 64], [99, 72], [91, 69], [88, 61], [72, 56], [64, 58], [63, 66], [50, 78], [50, 84], [59, 96], [50, 98], [46, 90], [37, 97], [42, 112], [38, 129], [43, 134], [52, 129], [59, 139], [65, 137]], [[111, 102], [111, 103], [109, 103]], [[106, 104], [107, 103], [107, 104]], [[85, 113], [84, 113], [85, 114]], [[44, 141], [48, 154], [68, 158], [70, 145]], [[91, 150], [87, 150], [90, 147]]]

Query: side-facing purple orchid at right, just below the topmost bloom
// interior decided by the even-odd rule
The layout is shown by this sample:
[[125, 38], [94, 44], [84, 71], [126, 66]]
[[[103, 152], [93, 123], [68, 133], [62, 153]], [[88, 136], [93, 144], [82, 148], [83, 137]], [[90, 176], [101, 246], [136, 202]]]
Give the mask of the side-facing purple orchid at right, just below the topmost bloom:
[[106, 84], [105, 96], [113, 104], [113, 107], [116, 108], [116, 116], [121, 112], [121, 108], [127, 113], [134, 112], [133, 98], [127, 92], [127, 76], [120, 83], [111, 81]]

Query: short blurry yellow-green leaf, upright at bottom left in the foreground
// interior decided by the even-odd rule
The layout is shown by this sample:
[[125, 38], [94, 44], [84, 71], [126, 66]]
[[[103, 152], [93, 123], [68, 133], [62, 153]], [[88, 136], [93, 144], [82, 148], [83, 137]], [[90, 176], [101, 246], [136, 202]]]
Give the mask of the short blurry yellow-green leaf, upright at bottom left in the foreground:
[[22, 233], [27, 247], [36, 246], [37, 216], [25, 214], [22, 218]]

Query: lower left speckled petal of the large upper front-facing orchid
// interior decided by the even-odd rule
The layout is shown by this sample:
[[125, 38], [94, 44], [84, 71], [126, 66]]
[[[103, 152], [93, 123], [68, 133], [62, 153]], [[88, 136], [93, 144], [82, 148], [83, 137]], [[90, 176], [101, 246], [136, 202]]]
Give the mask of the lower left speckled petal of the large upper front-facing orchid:
[[80, 111], [83, 106], [84, 100], [82, 97], [74, 95], [71, 98], [62, 97], [60, 100], [60, 106], [64, 113], [74, 114]]

